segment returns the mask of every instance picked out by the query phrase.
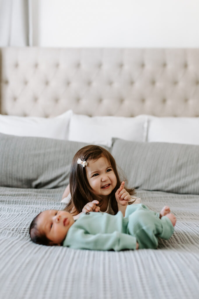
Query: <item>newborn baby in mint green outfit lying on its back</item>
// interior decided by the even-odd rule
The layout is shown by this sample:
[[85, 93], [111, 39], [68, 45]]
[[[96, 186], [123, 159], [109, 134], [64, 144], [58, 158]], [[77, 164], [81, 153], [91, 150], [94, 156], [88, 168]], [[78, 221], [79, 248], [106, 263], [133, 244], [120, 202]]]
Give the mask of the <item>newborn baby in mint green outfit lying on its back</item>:
[[142, 204], [128, 205], [125, 217], [120, 211], [117, 215], [86, 212], [76, 221], [69, 212], [46, 210], [33, 219], [29, 233], [33, 242], [42, 245], [115, 251], [155, 249], [158, 237], [172, 236], [175, 223], [167, 206], [155, 213]]

